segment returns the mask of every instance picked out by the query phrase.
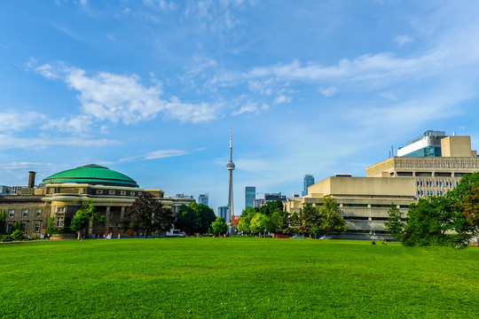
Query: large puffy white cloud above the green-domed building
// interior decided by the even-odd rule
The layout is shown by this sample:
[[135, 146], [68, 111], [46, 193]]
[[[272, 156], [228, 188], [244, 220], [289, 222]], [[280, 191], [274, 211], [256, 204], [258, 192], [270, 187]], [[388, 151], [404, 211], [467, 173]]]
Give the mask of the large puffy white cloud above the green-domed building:
[[125, 124], [149, 121], [159, 113], [165, 118], [200, 122], [216, 118], [216, 105], [183, 103], [177, 97], [161, 98], [161, 82], [145, 87], [136, 74], [119, 75], [101, 72], [89, 76], [85, 70], [63, 64], [43, 65], [35, 71], [47, 79], [61, 79], [70, 89], [79, 91], [78, 100], [84, 117], [69, 120], [79, 128], [89, 117], [98, 121], [122, 121]]

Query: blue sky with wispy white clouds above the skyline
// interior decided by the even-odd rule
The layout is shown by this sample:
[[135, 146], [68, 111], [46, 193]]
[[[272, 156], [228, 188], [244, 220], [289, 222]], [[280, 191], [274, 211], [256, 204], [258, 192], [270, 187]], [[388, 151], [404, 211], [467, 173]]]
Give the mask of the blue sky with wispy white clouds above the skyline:
[[[479, 149], [473, 1], [4, 1], [0, 184], [96, 163], [167, 196], [291, 196], [425, 130]], [[260, 195], [261, 196], [261, 195]]]

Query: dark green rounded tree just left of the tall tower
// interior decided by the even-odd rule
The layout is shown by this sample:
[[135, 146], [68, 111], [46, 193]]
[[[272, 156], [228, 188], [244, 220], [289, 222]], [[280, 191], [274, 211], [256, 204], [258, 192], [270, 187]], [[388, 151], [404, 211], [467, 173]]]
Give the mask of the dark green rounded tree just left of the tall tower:
[[179, 209], [175, 226], [188, 234], [208, 232], [212, 222], [215, 222], [216, 215], [213, 209], [203, 204], [190, 203], [182, 205]]

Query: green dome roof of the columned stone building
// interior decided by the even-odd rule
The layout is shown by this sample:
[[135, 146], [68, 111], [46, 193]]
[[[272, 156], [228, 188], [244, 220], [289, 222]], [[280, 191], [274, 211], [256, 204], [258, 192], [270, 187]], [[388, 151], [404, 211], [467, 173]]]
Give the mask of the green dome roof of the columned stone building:
[[47, 183], [89, 183], [93, 185], [138, 187], [137, 182], [129, 176], [95, 164], [53, 174], [43, 179], [40, 186]]

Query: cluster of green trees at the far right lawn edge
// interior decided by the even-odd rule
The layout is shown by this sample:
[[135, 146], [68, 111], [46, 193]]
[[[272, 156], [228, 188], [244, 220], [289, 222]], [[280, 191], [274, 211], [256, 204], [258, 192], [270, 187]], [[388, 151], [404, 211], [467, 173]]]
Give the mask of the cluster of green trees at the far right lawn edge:
[[479, 235], [479, 172], [464, 175], [444, 196], [420, 198], [404, 216], [391, 204], [389, 234], [403, 245], [464, 246]]

